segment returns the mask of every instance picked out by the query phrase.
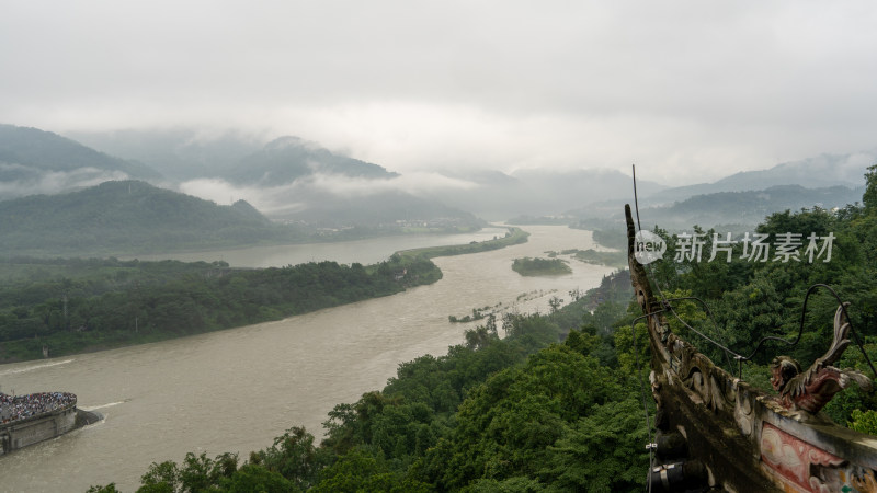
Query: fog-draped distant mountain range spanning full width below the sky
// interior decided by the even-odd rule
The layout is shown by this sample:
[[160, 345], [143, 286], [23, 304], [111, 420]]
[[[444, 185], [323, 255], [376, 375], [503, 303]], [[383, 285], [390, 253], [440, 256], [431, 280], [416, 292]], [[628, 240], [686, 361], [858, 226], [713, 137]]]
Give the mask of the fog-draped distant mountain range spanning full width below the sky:
[[[824, 154], [681, 187], [648, 180], [649, 167], [638, 165], [639, 204], [668, 221], [698, 215], [715, 222], [758, 221], [783, 208], [859, 200], [863, 174], [875, 162], [873, 151]], [[477, 227], [478, 218], [522, 215], [602, 218], [633, 199], [631, 177], [610, 170], [400, 174], [295, 136], [178, 128], [68, 138], [0, 125], [0, 200], [130, 179], [216, 205], [244, 200], [274, 221], [315, 228], [429, 221]]]

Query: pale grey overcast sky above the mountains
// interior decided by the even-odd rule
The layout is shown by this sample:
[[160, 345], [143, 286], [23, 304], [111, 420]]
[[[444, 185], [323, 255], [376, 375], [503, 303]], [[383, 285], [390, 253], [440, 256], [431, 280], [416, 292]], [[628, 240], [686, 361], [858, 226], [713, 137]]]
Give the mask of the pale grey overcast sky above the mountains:
[[686, 184], [877, 149], [877, 2], [0, 0], [0, 123]]

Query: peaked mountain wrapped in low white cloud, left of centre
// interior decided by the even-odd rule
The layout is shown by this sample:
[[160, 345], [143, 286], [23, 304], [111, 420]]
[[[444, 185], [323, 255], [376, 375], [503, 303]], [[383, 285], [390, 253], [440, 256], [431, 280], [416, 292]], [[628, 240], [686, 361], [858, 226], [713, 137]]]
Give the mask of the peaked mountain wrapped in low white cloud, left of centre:
[[415, 223], [448, 230], [483, 225], [469, 213], [410, 193], [394, 182], [398, 173], [298, 137], [274, 139], [214, 176], [257, 195], [265, 214], [284, 222], [385, 232]]

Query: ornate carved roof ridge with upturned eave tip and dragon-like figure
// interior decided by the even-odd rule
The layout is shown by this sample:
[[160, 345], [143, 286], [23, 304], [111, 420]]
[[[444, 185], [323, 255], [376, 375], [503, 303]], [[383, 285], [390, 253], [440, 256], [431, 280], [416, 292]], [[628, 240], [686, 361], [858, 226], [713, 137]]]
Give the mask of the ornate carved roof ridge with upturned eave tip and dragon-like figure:
[[657, 404], [652, 491], [877, 492], [877, 437], [835, 424], [820, 412], [861, 372], [838, 369], [850, 344], [845, 303], [834, 318], [834, 342], [806, 371], [789, 358], [772, 365], [770, 395], [717, 367], [674, 334], [646, 268], [636, 256], [636, 229], [625, 206], [628, 264], [648, 325], [652, 398]]

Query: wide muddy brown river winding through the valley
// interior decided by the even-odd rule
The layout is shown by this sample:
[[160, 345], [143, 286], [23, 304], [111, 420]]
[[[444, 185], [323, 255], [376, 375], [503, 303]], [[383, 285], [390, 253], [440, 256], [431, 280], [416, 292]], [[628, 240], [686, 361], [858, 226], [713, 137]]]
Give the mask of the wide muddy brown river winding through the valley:
[[[452, 324], [448, 316], [494, 306], [547, 312], [553, 296], [568, 299], [568, 291], [594, 287], [612, 271], [570, 260], [572, 274], [522, 277], [511, 270], [516, 257], [593, 245], [589, 231], [525, 229], [532, 236], [524, 244], [435, 259], [444, 277], [402, 294], [160, 343], [0, 365], [7, 393], [65, 390], [78, 395], [80, 408], [105, 416], [0, 457], [0, 491], [84, 492], [115, 482], [132, 492], [153, 461], [232, 451], [242, 462], [292, 426], [320, 437], [335, 404], [381, 389], [399, 363], [443, 355], [462, 343], [475, 324]], [[357, 243], [364, 255], [374, 255], [384, 241]]]

